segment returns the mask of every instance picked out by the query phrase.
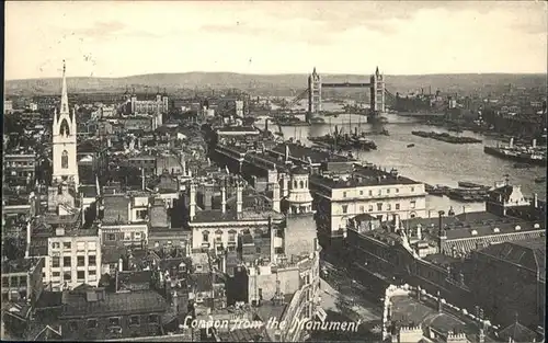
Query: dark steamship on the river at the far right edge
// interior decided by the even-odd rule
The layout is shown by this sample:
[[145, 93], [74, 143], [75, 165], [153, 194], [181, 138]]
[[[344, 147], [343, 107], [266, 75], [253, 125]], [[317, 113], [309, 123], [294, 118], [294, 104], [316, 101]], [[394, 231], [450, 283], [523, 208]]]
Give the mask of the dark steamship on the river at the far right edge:
[[546, 165], [546, 147], [538, 148], [535, 139], [533, 140], [533, 145], [527, 147], [514, 146], [514, 139], [512, 138], [507, 146], [484, 146], [483, 152], [516, 162]]

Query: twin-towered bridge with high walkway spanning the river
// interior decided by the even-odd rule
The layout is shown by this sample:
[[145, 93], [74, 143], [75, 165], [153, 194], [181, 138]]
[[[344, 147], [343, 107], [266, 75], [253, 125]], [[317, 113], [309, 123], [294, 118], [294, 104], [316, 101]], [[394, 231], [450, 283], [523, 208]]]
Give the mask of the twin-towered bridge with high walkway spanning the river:
[[308, 98], [308, 114], [310, 116], [318, 115], [322, 112], [322, 92], [324, 88], [366, 88], [369, 92], [370, 112], [369, 118], [379, 116], [386, 112], [386, 100], [393, 99], [393, 95], [387, 91], [385, 87], [385, 76], [377, 69], [370, 76], [369, 82], [322, 82], [322, 79], [316, 68], [308, 77], [308, 88], [301, 91], [290, 103], [289, 106], [295, 105], [299, 101]]

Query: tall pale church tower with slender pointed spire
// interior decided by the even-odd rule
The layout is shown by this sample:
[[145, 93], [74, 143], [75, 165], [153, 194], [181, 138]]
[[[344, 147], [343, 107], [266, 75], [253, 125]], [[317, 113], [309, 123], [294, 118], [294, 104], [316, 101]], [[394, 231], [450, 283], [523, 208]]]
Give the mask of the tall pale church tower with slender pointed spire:
[[78, 161], [77, 161], [77, 125], [76, 112], [70, 111], [67, 94], [65, 61], [62, 62], [61, 104], [54, 113], [53, 135], [53, 178], [52, 185], [60, 185], [64, 181], [78, 191]]

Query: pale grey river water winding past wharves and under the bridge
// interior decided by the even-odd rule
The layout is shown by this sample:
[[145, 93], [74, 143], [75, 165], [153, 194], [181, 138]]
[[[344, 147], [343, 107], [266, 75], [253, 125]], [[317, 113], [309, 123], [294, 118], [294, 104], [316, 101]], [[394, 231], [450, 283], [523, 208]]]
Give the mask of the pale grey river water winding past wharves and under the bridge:
[[[377, 145], [377, 150], [355, 151], [354, 157], [361, 161], [372, 162], [380, 168], [390, 170], [396, 168], [400, 174], [416, 181], [456, 187], [458, 181], [476, 182], [484, 185], [494, 185], [509, 175], [510, 183], [521, 185], [526, 197], [538, 194], [540, 199], [546, 198], [546, 183], [535, 183], [535, 178], [546, 175], [546, 167], [530, 167], [515, 169], [515, 162], [499, 159], [483, 152], [484, 145], [496, 145], [498, 140], [465, 130], [460, 135], [482, 139], [482, 144], [454, 145], [430, 138], [411, 135], [412, 130], [448, 133], [445, 128], [416, 123], [413, 118], [385, 115], [388, 123], [383, 124], [390, 136], [369, 136]], [[324, 117], [326, 124], [311, 126], [284, 126], [282, 133], [285, 139], [294, 138], [305, 145], [311, 145], [308, 137], [323, 136], [332, 133], [335, 126], [349, 133], [355, 128], [358, 132], [372, 132], [376, 128], [366, 123], [366, 118], [353, 114], [340, 114], [338, 117]], [[263, 123], [255, 123], [263, 128]], [[277, 128], [270, 127], [271, 130]], [[450, 133], [456, 135], [455, 133]], [[414, 147], [408, 148], [408, 145]], [[447, 210], [450, 206], [456, 213], [463, 210], [483, 210], [484, 203], [459, 203], [445, 196], [427, 196], [427, 206], [432, 210]], [[466, 206], [464, 208], [463, 206]]]

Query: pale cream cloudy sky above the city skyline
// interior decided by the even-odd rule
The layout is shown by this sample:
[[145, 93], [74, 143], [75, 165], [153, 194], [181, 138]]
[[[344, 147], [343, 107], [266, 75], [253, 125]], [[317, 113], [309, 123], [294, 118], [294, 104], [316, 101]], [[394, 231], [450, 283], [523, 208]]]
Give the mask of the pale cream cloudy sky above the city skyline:
[[547, 72], [545, 1], [5, 2], [8, 80]]

